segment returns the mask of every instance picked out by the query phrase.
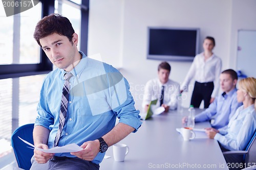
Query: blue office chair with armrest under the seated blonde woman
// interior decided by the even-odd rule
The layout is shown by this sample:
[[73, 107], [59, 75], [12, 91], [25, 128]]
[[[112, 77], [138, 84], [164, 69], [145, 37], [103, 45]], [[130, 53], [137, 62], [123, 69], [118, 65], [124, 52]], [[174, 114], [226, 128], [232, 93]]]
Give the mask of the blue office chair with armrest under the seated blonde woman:
[[[227, 151], [223, 152], [223, 155], [224, 157], [228, 155], [244, 155], [242, 162], [246, 165], [253, 165], [253, 163], [256, 162], [256, 130], [251, 140], [249, 141], [245, 151]], [[254, 168], [256, 168], [256, 165], [254, 166]]]

